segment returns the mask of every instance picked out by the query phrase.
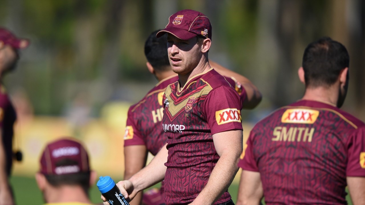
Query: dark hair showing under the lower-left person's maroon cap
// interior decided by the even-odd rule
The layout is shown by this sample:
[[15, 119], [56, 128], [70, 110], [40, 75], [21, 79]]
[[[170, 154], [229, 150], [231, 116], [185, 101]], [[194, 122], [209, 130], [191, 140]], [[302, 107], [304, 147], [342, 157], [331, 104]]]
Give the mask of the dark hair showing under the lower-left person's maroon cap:
[[[56, 166], [69, 165], [77, 165], [77, 162], [71, 159], [61, 159], [56, 163]], [[62, 185], [78, 185], [82, 187], [87, 196], [89, 195], [88, 190], [90, 188], [90, 171], [61, 175], [46, 174], [45, 177], [48, 183], [54, 187], [59, 187]]]

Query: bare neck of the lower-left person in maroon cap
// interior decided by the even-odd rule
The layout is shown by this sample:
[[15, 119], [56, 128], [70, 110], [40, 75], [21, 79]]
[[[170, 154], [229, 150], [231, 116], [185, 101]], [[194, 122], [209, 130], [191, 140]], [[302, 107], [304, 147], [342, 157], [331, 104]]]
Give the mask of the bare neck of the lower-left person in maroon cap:
[[44, 194], [47, 203], [81, 202], [92, 204], [80, 186], [50, 187]]

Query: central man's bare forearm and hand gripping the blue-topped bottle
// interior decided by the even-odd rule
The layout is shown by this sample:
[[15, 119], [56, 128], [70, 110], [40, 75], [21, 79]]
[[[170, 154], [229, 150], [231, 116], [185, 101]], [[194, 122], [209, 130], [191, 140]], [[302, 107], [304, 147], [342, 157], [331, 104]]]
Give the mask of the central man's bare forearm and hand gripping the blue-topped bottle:
[[[125, 198], [132, 200], [139, 191], [155, 185], [165, 178], [165, 162], [168, 156], [166, 145], [161, 148], [145, 168], [134, 174], [129, 180], [120, 181], [116, 184]], [[103, 196], [101, 196], [101, 199], [104, 200], [105, 205], [108, 204]]]

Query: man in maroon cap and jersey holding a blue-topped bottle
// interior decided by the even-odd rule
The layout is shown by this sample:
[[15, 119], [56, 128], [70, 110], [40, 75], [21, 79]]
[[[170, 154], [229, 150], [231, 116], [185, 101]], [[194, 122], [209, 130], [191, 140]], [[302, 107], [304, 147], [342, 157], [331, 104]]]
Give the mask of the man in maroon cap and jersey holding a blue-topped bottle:
[[227, 189], [242, 152], [241, 99], [209, 65], [207, 16], [179, 11], [157, 37], [166, 32], [170, 65], [178, 74], [163, 97], [167, 144], [149, 165], [117, 185], [132, 199], [165, 178], [166, 204], [233, 204]]

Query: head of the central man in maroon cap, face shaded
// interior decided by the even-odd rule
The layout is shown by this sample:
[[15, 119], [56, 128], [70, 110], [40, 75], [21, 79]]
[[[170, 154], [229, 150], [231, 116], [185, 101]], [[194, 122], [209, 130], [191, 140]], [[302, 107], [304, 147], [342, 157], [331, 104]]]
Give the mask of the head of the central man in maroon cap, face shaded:
[[165, 33], [170, 65], [175, 73], [186, 75], [208, 62], [212, 25], [203, 13], [190, 9], [174, 13], [166, 28], [156, 36]]

